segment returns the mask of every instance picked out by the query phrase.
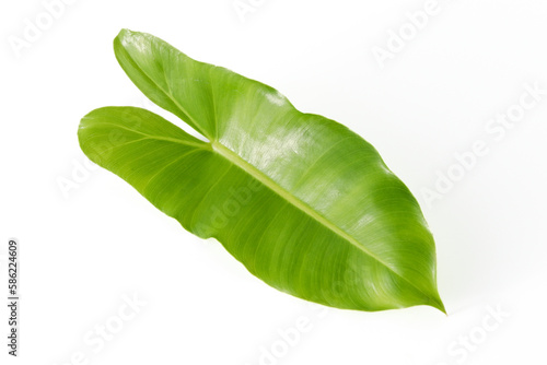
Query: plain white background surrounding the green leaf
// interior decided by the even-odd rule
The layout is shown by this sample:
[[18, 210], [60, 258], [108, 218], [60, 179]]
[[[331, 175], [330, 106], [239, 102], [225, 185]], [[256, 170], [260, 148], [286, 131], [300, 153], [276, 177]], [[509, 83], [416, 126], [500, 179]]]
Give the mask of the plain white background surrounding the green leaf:
[[[2, 2], [1, 292], [5, 243], [16, 237], [22, 338], [14, 361], [2, 305], [0, 363], [544, 362], [547, 95], [511, 128], [490, 120], [522, 111], [526, 84], [547, 89], [547, 2], [439, 0], [416, 34], [407, 13], [423, 0], [242, 2], [253, 7], [243, 17], [233, 0], [67, 0], [56, 19], [38, 0]], [[27, 30], [25, 39], [28, 24], [42, 34], [28, 38]], [[90, 169], [77, 139], [83, 115], [106, 105], [158, 109], [116, 62], [112, 40], [123, 27], [270, 84], [374, 144], [422, 205], [449, 316], [323, 310], [277, 292], [219, 243]], [[401, 30], [407, 40], [396, 49], [392, 32]], [[373, 51], [388, 46], [397, 51], [381, 64]], [[477, 141], [487, 153], [463, 169], [455, 154]], [[424, 191], [449, 173], [458, 180], [428, 203]], [[124, 298], [133, 295], [146, 304], [119, 319], [120, 309], [131, 315]], [[298, 335], [296, 322], [307, 322]], [[117, 332], [101, 346], [95, 330], [105, 325]]]

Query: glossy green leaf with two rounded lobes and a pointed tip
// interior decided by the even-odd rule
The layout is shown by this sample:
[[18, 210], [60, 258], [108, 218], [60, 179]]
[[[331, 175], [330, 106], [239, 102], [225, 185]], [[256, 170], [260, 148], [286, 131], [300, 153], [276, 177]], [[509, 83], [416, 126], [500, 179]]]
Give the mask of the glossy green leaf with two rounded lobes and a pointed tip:
[[92, 161], [282, 292], [338, 308], [444, 311], [420, 208], [371, 144], [149, 34], [121, 31], [114, 48], [150, 99], [208, 141], [144, 109], [100, 108], [79, 129]]

